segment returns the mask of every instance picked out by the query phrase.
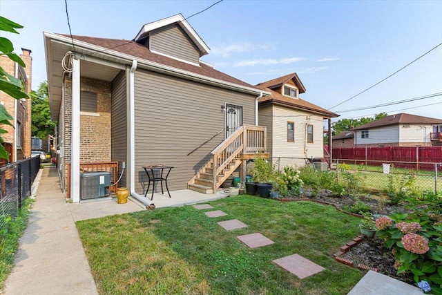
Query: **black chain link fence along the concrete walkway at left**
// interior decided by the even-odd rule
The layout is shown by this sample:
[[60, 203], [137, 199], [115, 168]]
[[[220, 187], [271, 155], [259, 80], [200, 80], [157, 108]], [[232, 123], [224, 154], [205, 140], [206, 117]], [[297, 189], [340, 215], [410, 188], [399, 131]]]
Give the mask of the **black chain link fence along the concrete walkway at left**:
[[6, 225], [6, 216], [14, 219], [23, 207], [39, 169], [39, 157], [0, 167], [0, 229]]

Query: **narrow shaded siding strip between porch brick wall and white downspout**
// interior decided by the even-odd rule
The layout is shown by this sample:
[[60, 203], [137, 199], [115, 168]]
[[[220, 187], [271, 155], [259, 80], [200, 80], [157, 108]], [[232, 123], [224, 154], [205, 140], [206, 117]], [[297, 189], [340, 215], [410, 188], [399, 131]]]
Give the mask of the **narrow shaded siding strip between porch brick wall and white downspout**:
[[[127, 107], [126, 107], [126, 72], [122, 70], [112, 82], [112, 144], [111, 160], [120, 162], [119, 173], [122, 172], [121, 162], [127, 158]], [[126, 171], [118, 182], [118, 187], [126, 187]]]

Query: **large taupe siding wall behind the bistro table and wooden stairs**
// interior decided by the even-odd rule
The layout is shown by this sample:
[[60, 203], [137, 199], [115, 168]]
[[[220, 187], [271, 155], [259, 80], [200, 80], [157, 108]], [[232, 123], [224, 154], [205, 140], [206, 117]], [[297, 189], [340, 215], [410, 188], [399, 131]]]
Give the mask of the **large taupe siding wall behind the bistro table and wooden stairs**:
[[[187, 182], [224, 140], [225, 103], [243, 107], [243, 123], [254, 123], [254, 97], [190, 82], [160, 73], [135, 73], [135, 189], [142, 193], [139, 173], [146, 164], [174, 166], [169, 189], [186, 189]], [[142, 175], [142, 174], [141, 174]], [[160, 187], [158, 187], [160, 188]], [[172, 196], [173, 197], [173, 196]]]

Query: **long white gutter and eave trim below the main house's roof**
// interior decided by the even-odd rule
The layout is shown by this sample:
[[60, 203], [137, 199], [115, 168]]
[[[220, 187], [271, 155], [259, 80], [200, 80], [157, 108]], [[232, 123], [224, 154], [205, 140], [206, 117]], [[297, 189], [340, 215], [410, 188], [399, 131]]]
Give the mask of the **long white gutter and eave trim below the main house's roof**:
[[[51, 38], [51, 41], [64, 41], [64, 44], [66, 46], [72, 46], [72, 40], [68, 37], [64, 37], [61, 35], [57, 35], [55, 33], [51, 33], [51, 32], [44, 32], [44, 36], [47, 38]], [[106, 50], [104, 53], [101, 53], [102, 55], [107, 55], [110, 57], [115, 57], [117, 59], [120, 59], [123, 62], [126, 62], [126, 64], [132, 63], [132, 60], [135, 59], [134, 56], [132, 55], [127, 55], [125, 53], [119, 53], [117, 51], [113, 51], [113, 50], [107, 50], [107, 48], [101, 47], [101, 46], [95, 46], [93, 44], [89, 44], [87, 42], [84, 41], [78, 41], [78, 40], [73, 40], [74, 44], [75, 44], [75, 49], [79, 50], [92, 50], [95, 53], [102, 51], [102, 50]], [[82, 46], [82, 48], [81, 48]], [[51, 59], [52, 60], [52, 59]], [[172, 66], [166, 66], [164, 64], [158, 64], [156, 62], [153, 61], [149, 61], [147, 59], [136, 59], [138, 66], [137, 68], [146, 68], [148, 70], [154, 70], [156, 72], [160, 72], [160, 73], [167, 73], [169, 75], [175, 75], [177, 77], [184, 77], [186, 79], [192, 79], [194, 81], [197, 82], [202, 82], [204, 84], [209, 84], [209, 85], [215, 85], [215, 86], [219, 86], [222, 88], [227, 88], [227, 89], [233, 89], [236, 91], [241, 91], [243, 93], [249, 93], [249, 94], [254, 94], [254, 95], [259, 95], [260, 93], [262, 93], [263, 95], [270, 95], [269, 92], [267, 91], [261, 91], [259, 89], [256, 88], [251, 88], [251, 87], [247, 87], [247, 86], [242, 86], [239, 84], [234, 84], [231, 82], [226, 82], [220, 79], [214, 79], [211, 77], [207, 77], [204, 75], [199, 75], [193, 72], [189, 72], [187, 70], [181, 70], [179, 68], [173, 68]], [[48, 61], [48, 55], [46, 56], [46, 61]], [[50, 68], [48, 68], [48, 79], [50, 79], [50, 73], [49, 73]]]

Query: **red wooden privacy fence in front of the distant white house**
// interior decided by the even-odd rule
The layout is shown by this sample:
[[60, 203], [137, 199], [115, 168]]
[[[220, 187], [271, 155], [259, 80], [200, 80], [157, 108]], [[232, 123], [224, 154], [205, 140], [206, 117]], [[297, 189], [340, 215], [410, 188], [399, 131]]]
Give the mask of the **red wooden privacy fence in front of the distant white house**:
[[442, 162], [442, 146], [365, 146], [333, 149], [334, 159], [345, 159], [354, 164], [379, 166], [394, 162], [394, 166], [407, 169], [433, 170]]

